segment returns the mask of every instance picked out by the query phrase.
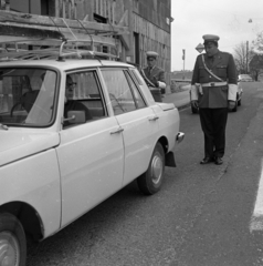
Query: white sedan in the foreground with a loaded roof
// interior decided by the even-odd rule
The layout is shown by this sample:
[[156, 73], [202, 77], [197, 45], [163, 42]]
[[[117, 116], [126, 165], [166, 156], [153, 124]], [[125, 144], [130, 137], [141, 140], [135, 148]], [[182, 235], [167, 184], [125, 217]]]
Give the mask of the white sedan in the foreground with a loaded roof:
[[0, 265], [24, 266], [29, 238], [55, 234], [134, 180], [158, 192], [165, 166], [176, 166], [179, 125], [130, 64], [2, 60]]

